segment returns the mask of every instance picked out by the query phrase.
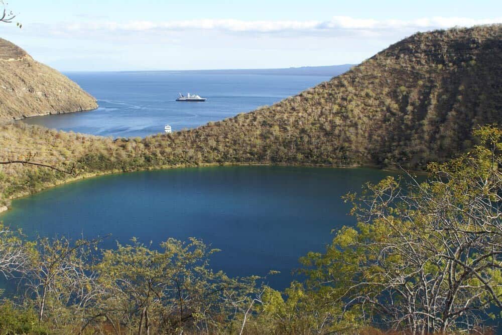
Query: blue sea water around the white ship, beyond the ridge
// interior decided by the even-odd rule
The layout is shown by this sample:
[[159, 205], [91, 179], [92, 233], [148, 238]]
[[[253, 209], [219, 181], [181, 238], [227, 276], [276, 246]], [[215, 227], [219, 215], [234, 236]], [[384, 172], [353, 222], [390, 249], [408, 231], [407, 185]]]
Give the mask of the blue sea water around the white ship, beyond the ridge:
[[[272, 105], [330, 77], [218, 75], [173, 72], [67, 73], [97, 99], [90, 112], [23, 120], [48, 128], [112, 137], [144, 137], [194, 128]], [[178, 93], [199, 94], [205, 102], [176, 102]]]

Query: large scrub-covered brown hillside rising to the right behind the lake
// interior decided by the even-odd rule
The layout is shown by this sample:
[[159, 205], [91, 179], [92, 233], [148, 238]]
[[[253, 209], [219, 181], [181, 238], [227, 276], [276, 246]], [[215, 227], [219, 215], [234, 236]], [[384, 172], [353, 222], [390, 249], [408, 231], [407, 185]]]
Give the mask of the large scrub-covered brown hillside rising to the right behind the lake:
[[179, 136], [226, 162], [421, 168], [502, 121], [500, 78], [502, 25], [418, 33], [298, 96]]

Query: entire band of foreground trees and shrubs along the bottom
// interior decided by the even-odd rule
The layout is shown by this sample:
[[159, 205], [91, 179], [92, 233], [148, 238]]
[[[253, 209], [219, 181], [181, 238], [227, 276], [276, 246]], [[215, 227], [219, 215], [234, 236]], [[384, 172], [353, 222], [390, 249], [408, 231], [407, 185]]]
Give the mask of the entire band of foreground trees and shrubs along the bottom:
[[387, 178], [348, 194], [358, 224], [302, 258], [306, 280], [284, 292], [212, 271], [217, 250], [196, 239], [97, 257], [99, 241], [0, 229], [0, 271], [23, 290], [1, 308], [24, 315], [0, 321], [32, 326], [7, 333], [484, 332], [502, 306], [502, 130], [475, 135], [480, 145], [431, 164], [425, 183]]

